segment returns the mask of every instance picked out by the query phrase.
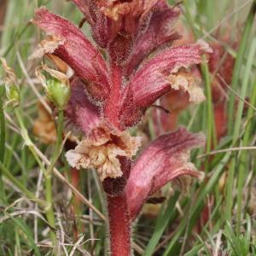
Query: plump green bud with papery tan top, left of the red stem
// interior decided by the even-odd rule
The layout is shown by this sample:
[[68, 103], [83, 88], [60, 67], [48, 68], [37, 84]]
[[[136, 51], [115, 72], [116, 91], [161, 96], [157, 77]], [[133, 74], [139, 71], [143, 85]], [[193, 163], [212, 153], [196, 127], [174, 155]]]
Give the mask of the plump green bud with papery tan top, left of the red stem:
[[70, 97], [70, 84], [67, 75], [45, 65], [38, 67], [36, 75], [43, 84], [49, 101], [53, 102], [56, 108], [64, 109]]

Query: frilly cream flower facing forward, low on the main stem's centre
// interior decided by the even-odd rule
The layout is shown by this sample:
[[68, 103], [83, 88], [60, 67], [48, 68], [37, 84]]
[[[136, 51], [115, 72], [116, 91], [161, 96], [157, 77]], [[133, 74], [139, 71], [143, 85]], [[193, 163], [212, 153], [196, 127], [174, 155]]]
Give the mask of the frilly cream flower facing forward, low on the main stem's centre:
[[69, 165], [77, 169], [95, 168], [103, 181], [106, 177], [121, 177], [123, 172], [118, 156], [131, 159], [140, 145], [140, 137], [131, 137], [127, 131], [113, 134], [99, 126], [75, 149], [69, 150], [66, 157]]

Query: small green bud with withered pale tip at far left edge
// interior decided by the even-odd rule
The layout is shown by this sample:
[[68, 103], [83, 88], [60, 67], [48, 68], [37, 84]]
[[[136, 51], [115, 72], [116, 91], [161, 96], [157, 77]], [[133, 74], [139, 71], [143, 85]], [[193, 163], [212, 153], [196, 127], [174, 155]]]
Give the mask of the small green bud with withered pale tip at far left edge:
[[5, 72], [3, 81], [5, 84], [6, 96], [9, 100], [9, 103], [11, 103], [14, 108], [16, 108], [20, 102], [20, 89], [17, 85], [15, 71], [8, 66], [7, 61], [4, 58], [1, 58], [1, 62]]

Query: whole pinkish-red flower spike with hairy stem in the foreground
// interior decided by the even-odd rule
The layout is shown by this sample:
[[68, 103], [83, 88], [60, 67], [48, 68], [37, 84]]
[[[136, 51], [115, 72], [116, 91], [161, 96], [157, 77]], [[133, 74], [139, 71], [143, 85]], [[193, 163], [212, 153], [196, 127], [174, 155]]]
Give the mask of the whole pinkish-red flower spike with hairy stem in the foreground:
[[[189, 150], [204, 143], [201, 134], [181, 128], [159, 137], [132, 164], [140, 140], [127, 130], [172, 90], [188, 92], [191, 101], [201, 102], [201, 87], [189, 67], [211, 49], [203, 41], [170, 47], [179, 38], [173, 30], [179, 9], [165, 0], [73, 2], [89, 22], [97, 45], [68, 20], [41, 8], [32, 22], [50, 37], [34, 56], [50, 53], [73, 69], [66, 114], [84, 139], [67, 152], [67, 160], [77, 168], [96, 168], [108, 193], [109, 215], [123, 216], [130, 225], [148, 196], [167, 182], [201, 177], [189, 163]], [[114, 224], [110, 219], [110, 233], [121, 232]], [[119, 237], [129, 241], [126, 234], [113, 235], [113, 255], [126, 255]]]

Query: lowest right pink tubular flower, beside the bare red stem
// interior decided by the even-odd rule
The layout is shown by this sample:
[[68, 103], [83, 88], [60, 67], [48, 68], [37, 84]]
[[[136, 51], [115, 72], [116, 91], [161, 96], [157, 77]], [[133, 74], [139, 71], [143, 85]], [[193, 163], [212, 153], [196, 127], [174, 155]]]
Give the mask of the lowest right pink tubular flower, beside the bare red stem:
[[[136, 218], [143, 203], [150, 195], [167, 182], [177, 180], [187, 189], [191, 182], [189, 176], [202, 178], [189, 162], [191, 148], [203, 146], [202, 133], [192, 134], [184, 128], [158, 137], [151, 143], [131, 167], [130, 177], [125, 186], [127, 205], [131, 218]], [[183, 179], [180, 179], [183, 177]]]

